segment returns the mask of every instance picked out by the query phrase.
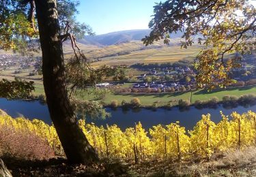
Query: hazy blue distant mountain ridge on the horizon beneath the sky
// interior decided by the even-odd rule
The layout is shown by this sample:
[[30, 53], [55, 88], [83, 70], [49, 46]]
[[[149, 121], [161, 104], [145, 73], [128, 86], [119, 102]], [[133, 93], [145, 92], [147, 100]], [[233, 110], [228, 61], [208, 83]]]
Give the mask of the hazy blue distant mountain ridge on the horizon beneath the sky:
[[[106, 33], [103, 35], [85, 36], [84, 39], [80, 39], [82, 44], [89, 44], [94, 46], [111, 46], [114, 44], [120, 44], [124, 42], [140, 41], [143, 37], [150, 34], [151, 29], [137, 29], [127, 31], [116, 31], [112, 33]], [[175, 33], [171, 35], [172, 38], [182, 37], [183, 33]]]

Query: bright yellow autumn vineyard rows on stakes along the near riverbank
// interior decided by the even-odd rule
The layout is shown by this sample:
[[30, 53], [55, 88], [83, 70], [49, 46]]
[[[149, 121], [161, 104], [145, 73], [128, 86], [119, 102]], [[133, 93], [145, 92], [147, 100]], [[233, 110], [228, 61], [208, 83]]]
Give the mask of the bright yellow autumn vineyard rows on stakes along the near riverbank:
[[[242, 149], [256, 144], [255, 112], [233, 112], [230, 116], [221, 112], [221, 116], [221, 122], [215, 124], [211, 121], [210, 114], [202, 115], [191, 131], [180, 127], [179, 122], [153, 126], [149, 133], [141, 123], [122, 131], [117, 125], [106, 125], [104, 128], [79, 120], [79, 127], [99, 157], [136, 163], [154, 159], [210, 159], [214, 152]], [[55, 128], [42, 120], [0, 116], [0, 125], [10, 127], [13, 131], [38, 135], [53, 148], [55, 155], [63, 155]]]

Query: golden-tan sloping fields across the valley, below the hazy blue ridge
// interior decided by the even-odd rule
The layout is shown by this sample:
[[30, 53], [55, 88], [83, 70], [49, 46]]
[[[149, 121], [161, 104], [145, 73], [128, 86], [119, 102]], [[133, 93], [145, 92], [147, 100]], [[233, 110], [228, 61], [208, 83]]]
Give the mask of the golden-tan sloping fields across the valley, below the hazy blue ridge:
[[[98, 61], [91, 63], [93, 67], [100, 67], [101, 65], [133, 65], [136, 63], [174, 63], [182, 59], [195, 59], [200, 50], [199, 45], [195, 44], [188, 49], [184, 49], [180, 48], [177, 39], [173, 40], [170, 46], [162, 42], [155, 42], [145, 47], [141, 41], [132, 41], [104, 47], [81, 43], [78, 46], [89, 60], [98, 59]], [[73, 50], [70, 43], [65, 42], [63, 44], [63, 52], [66, 59], [72, 57]], [[0, 54], [13, 54], [13, 52], [0, 50]], [[106, 57], [109, 55], [113, 55], [113, 57]], [[40, 52], [34, 54], [34, 57], [40, 56]]]

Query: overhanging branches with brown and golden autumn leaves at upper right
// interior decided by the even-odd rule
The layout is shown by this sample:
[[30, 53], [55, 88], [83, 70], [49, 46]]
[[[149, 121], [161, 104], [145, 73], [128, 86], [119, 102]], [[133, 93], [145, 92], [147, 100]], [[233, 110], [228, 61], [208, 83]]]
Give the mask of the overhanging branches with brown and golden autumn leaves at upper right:
[[154, 6], [149, 27], [152, 32], [143, 39], [145, 45], [182, 31], [181, 46], [203, 44], [197, 56], [199, 87], [214, 88], [235, 82], [230, 71], [240, 67], [239, 55], [255, 51], [256, 9], [248, 0], [168, 0]]

